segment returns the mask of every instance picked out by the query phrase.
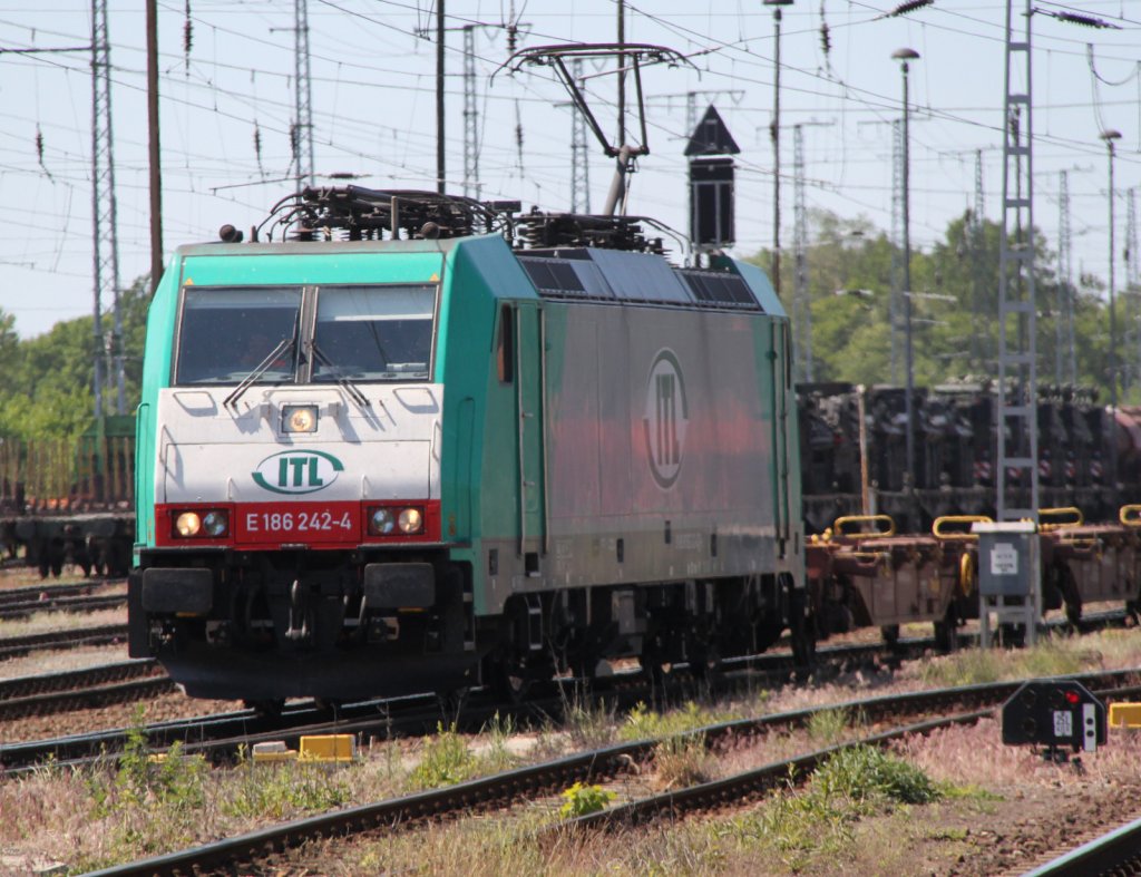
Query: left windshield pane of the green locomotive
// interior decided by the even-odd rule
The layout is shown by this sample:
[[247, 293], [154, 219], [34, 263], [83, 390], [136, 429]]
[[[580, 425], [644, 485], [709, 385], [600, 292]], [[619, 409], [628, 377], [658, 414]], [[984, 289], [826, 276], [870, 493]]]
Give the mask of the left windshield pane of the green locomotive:
[[[282, 343], [292, 341], [299, 287], [250, 290], [187, 286], [178, 336], [176, 383], [237, 384]], [[282, 348], [258, 383], [292, 381], [297, 344]]]

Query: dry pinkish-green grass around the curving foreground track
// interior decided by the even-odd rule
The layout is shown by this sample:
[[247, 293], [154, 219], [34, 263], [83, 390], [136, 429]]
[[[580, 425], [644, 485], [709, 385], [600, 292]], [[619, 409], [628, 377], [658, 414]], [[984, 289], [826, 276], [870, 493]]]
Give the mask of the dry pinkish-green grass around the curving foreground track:
[[[84, 622], [90, 623], [88, 617]], [[73, 773], [44, 769], [0, 785], [0, 853], [17, 856], [26, 867], [0, 859], [0, 872], [29, 870], [31, 856], [47, 856], [70, 868], [95, 868], [178, 848], [211, 837], [251, 830], [269, 821], [298, 818], [341, 804], [389, 798], [408, 789], [450, 781], [460, 774], [479, 776], [520, 763], [565, 754], [576, 745], [621, 737], [679, 734], [730, 717], [808, 706], [833, 705], [875, 693], [916, 690], [930, 685], [933, 674], [974, 681], [972, 676], [1001, 672], [1028, 675], [1050, 668], [1098, 669], [1141, 664], [1136, 632], [1109, 631], [1075, 640], [1051, 641], [1026, 652], [980, 656], [973, 652], [908, 665], [892, 676], [871, 669], [830, 684], [787, 689], [714, 706], [687, 705], [657, 715], [636, 710], [629, 717], [583, 708], [564, 729], [545, 729], [523, 737], [504, 723], [493, 723], [477, 739], [455, 738], [440, 747], [438, 738], [414, 741], [373, 741], [364, 758], [348, 769], [315, 774], [296, 769], [265, 770], [249, 765], [202, 771], [187, 768], [173, 786], [154, 791], [148, 786], [129, 795], [116, 779], [118, 765]], [[932, 667], [939, 666], [938, 671]], [[823, 714], [809, 729], [793, 734], [762, 736], [747, 744], [727, 744], [714, 755], [699, 739], [685, 738], [659, 747], [645, 776], [624, 789], [649, 788], [713, 779], [755, 768], [788, 755], [819, 748], [857, 732], [859, 716], [841, 710]], [[1141, 744], [1118, 740], [1086, 757], [1087, 779], [1112, 782], [1114, 777], [1141, 763]], [[957, 789], [957, 798], [976, 811], [993, 806], [974, 788], [1049, 782], [1057, 769], [1025, 749], [1001, 746], [994, 722], [952, 729], [916, 739], [899, 753], [932, 779]], [[453, 776], [453, 769], [458, 771]], [[419, 773], [416, 773], [419, 771]], [[424, 779], [431, 780], [424, 782]], [[636, 785], [640, 783], [636, 788]], [[868, 866], [851, 852], [856, 826], [880, 830], [876, 820], [899, 820], [898, 809], [853, 812], [835, 802], [803, 803], [799, 793], [770, 798], [735, 818], [689, 819], [674, 826], [615, 837], [561, 837], [541, 841], [536, 828], [557, 819], [559, 799], [536, 802], [511, 814], [464, 819], [382, 841], [356, 844], [351, 854], [319, 871], [408, 870], [415, 874], [842, 874]], [[866, 822], [866, 825], [865, 825]], [[898, 826], [897, 826], [898, 827]], [[874, 844], [874, 841], [873, 841]], [[844, 852], [844, 851], [848, 852]], [[864, 854], [861, 854], [864, 855]], [[891, 845], [876, 851], [873, 871], [895, 872], [904, 862]], [[820, 870], [816, 862], [831, 862]], [[876, 864], [877, 863], [877, 864]], [[340, 870], [338, 870], [338, 868]], [[849, 870], [848, 872], [858, 872]]]

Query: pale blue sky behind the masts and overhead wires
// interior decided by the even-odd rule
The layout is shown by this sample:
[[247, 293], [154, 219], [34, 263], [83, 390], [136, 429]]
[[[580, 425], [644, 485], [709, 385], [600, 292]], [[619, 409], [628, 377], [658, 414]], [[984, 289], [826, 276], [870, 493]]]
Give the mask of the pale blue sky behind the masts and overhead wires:
[[[108, 0], [120, 279], [151, 266], [144, 5]], [[1026, 0], [1014, 0], [1025, 34]], [[373, 188], [435, 188], [435, 15], [430, 0], [308, 0], [315, 172]], [[985, 214], [1001, 220], [1004, 24], [998, 0], [934, 0], [904, 15], [893, 2], [794, 0], [780, 39], [780, 239], [791, 254], [794, 127], [801, 125], [804, 206], [891, 228], [891, 122], [903, 78], [892, 54], [911, 48], [911, 241], [928, 249], [976, 200], [981, 155]], [[1036, 0], [1033, 34], [1034, 219], [1057, 249], [1059, 185], [1068, 171], [1075, 279], [1109, 270], [1108, 154], [1115, 129], [1115, 271], [1141, 184], [1141, 7], [1127, 0]], [[445, 131], [447, 190], [464, 187], [463, 32], [472, 30], [479, 195], [525, 209], [570, 208], [572, 111], [542, 67], [511, 73], [518, 48], [616, 40], [615, 0], [448, 0]], [[1098, 19], [1109, 27], [1065, 21]], [[1062, 17], [1059, 17], [1062, 16]], [[22, 336], [94, 308], [91, 222], [91, 8], [75, 0], [0, 0], [0, 310]], [[824, 33], [827, 40], [824, 39]], [[189, 40], [187, 41], [187, 33]], [[159, 3], [164, 252], [249, 229], [294, 190], [292, 2]], [[644, 72], [649, 154], [638, 162], [629, 212], [687, 229], [688, 135], [709, 104], [741, 147], [737, 242], [772, 243], [775, 23], [761, 0], [628, 0], [625, 39], [685, 56]], [[827, 49], [825, 49], [827, 43]], [[1025, 56], [1015, 54], [1018, 74]], [[691, 66], [690, 66], [691, 65]], [[613, 138], [615, 78], [588, 63], [592, 111]], [[492, 76], [492, 74], [495, 74]], [[628, 87], [632, 92], [632, 87]], [[614, 162], [591, 139], [590, 206], [600, 211]], [[1135, 233], [1134, 233], [1135, 234]], [[1039, 259], [1043, 258], [1039, 255]], [[103, 309], [111, 302], [103, 301]]]

